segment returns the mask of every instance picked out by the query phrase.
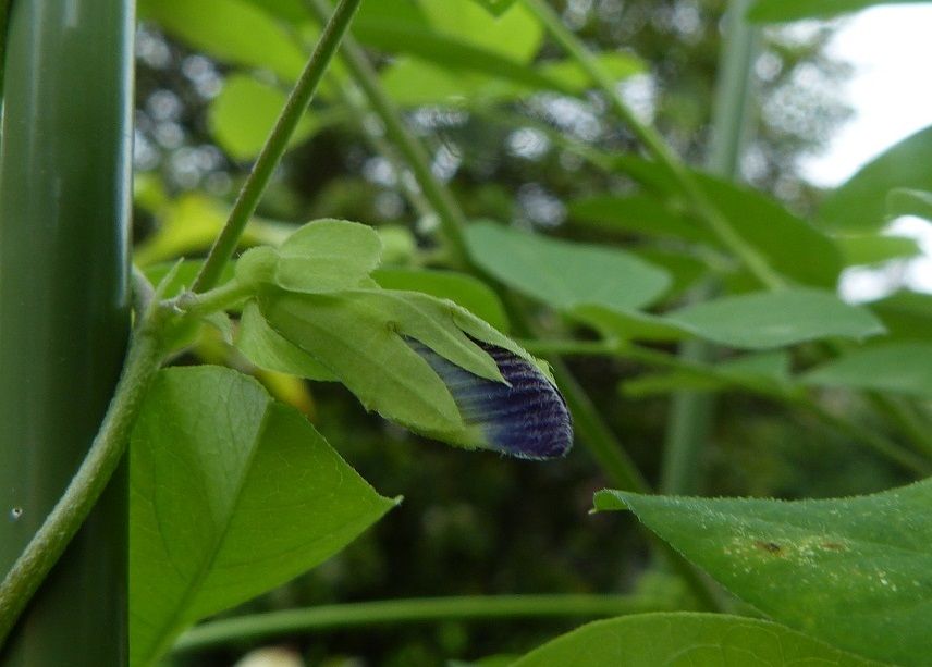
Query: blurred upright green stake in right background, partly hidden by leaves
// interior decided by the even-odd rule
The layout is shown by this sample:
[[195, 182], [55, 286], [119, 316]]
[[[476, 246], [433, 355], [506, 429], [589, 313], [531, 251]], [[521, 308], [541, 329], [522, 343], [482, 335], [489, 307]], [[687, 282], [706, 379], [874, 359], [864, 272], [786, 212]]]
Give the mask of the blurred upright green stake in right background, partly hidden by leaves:
[[[753, 62], [760, 41], [760, 30], [745, 20], [748, 5], [748, 0], [733, 0], [725, 16], [721, 74], [712, 109], [712, 145], [707, 161], [709, 171], [733, 181], [739, 177], [741, 152], [750, 135]], [[713, 293], [713, 285], [706, 282], [691, 296], [704, 300]], [[689, 339], [679, 346], [684, 360], [704, 362], [713, 355], [713, 347], [704, 341]], [[671, 397], [661, 493], [700, 493], [702, 449], [712, 431], [714, 411], [715, 396], [708, 392], [682, 391]]]

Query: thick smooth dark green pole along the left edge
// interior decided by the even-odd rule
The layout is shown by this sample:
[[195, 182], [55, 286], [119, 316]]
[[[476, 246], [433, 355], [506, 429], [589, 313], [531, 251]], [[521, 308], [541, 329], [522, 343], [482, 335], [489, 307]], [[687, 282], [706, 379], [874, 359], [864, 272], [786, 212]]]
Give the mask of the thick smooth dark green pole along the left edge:
[[[96, 433], [130, 329], [132, 0], [14, 0], [0, 145], [0, 576]], [[29, 604], [2, 667], [126, 663], [126, 478]]]

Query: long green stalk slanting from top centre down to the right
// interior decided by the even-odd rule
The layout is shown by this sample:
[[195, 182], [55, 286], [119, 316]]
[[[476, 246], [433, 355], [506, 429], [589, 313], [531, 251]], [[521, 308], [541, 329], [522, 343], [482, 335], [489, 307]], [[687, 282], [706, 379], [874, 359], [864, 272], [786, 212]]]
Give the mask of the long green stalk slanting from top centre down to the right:
[[731, 225], [728, 220], [712, 203], [706, 193], [686, 169], [686, 165], [670, 149], [663, 138], [652, 127], [641, 123], [628, 109], [615, 82], [605, 72], [591, 51], [561, 21], [547, 0], [524, 0], [561, 47], [577, 62], [584, 72], [602, 90], [615, 114], [630, 128], [643, 144], [648, 152], [662, 164], [679, 185], [683, 194], [691, 203], [695, 212], [706, 222], [709, 230], [731, 250], [761, 284], [770, 289], [778, 289], [786, 281], [768, 263], [757, 248], [748, 244]]

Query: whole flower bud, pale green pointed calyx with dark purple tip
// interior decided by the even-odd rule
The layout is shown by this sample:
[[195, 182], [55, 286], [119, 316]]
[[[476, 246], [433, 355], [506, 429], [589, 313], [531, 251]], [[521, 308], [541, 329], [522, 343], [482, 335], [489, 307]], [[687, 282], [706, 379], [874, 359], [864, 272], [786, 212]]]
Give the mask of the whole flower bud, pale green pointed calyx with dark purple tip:
[[415, 431], [527, 458], [562, 456], [572, 444], [552, 381], [527, 353], [452, 301], [355, 289], [269, 292], [259, 306], [273, 330], [367, 409]]

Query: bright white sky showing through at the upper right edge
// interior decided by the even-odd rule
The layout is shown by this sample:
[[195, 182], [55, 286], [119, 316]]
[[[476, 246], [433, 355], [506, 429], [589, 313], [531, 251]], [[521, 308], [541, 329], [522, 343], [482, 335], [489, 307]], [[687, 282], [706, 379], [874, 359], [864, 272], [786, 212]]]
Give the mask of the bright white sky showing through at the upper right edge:
[[[855, 116], [838, 128], [822, 156], [800, 163], [802, 174], [823, 186], [843, 183], [887, 147], [932, 125], [932, 3], [868, 9], [842, 26], [829, 48], [855, 66], [843, 91]], [[932, 292], [932, 225], [900, 218], [890, 232], [918, 238], [925, 256], [880, 270], [848, 270], [843, 296], [871, 300], [900, 285]]]

